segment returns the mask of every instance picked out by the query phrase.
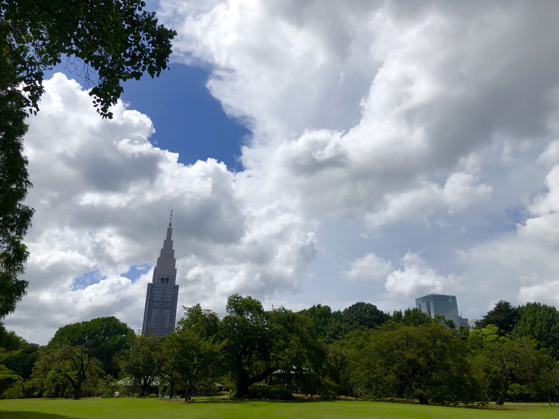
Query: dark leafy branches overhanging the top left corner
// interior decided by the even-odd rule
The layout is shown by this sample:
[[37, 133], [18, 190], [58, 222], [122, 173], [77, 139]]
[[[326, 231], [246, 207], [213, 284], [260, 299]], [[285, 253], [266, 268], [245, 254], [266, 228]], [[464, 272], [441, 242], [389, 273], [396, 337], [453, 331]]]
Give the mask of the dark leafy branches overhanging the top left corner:
[[120, 82], [144, 72], [159, 76], [172, 53], [176, 32], [145, 6], [141, 0], [1, 0], [2, 78], [22, 84], [23, 101], [39, 110], [44, 70], [61, 63], [63, 54], [74, 56], [83, 61], [98, 112], [111, 118]]

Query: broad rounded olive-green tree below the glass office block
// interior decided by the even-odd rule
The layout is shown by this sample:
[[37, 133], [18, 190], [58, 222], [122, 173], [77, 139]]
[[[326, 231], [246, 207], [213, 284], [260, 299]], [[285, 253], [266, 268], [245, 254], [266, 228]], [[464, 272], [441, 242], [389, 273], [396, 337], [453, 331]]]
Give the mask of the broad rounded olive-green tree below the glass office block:
[[[358, 335], [349, 335], [353, 343]], [[418, 327], [386, 325], [367, 336], [345, 369], [360, 398], [417, 398], [420, 403], [468, 401], [465, 344], [456, 331], [431, 322]]]

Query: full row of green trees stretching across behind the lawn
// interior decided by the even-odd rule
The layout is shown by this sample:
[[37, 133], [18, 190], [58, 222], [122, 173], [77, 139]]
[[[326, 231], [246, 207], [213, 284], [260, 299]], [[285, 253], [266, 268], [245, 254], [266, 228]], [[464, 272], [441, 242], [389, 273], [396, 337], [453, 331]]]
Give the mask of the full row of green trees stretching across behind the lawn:
[[0, 391], [78, 399], [161, 389], [187, 400], [220, 383], [238, 398], [299, 392], [438, 404], [552, 404], [559, 393], [559, 312], [546, 304], [500, 301], [472, 331], [418, 308], [384, 313], [364, 302], [266, 311], [235, 294], [222, 318], [200, 304], [183, 308], [163, 338], [115, 317], [61, 327], [45, 346], [4, 330]]

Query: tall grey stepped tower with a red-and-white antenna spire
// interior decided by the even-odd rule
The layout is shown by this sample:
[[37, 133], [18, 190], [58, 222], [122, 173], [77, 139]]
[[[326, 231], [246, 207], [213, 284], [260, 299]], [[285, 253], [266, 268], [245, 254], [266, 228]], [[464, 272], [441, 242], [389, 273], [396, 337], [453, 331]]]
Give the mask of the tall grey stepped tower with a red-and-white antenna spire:
[[148, 293], [145, 297], [144, 325], [142, 333], [150, 332], [154, 335], [170, 335], [175, 326], [177, 316], [178, 285], [176, 259], [173, 249], [173, 211], [167, 237], [163, 241], [163, 249], [159, 252], [157, 264], [153, 269], [153, 279], [148, 284]]

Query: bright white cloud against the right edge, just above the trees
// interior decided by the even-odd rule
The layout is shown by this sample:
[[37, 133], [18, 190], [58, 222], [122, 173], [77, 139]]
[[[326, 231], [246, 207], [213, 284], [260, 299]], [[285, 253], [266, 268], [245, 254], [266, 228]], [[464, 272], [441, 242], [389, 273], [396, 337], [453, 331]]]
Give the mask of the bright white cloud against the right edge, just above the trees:
[[[540, 163], [559, 157], [556, 141], [539, 156]], [[525, 207], [524, 222], [514, 232], [460, 251], [468, 266], [468, 277], [490, 293], [525, 303], [557, 304], [559, 263], [559, 166], [552, 166], [545, 177], [546, 190], [534, 194]], [[483, 274], [481, 272], [484, 272]], [[481, 275], [484, 275], [483, 277]], [[477, 278], [476, 278], [477, 277]], [[479, 279], [479, 278], [483, 279]]]

